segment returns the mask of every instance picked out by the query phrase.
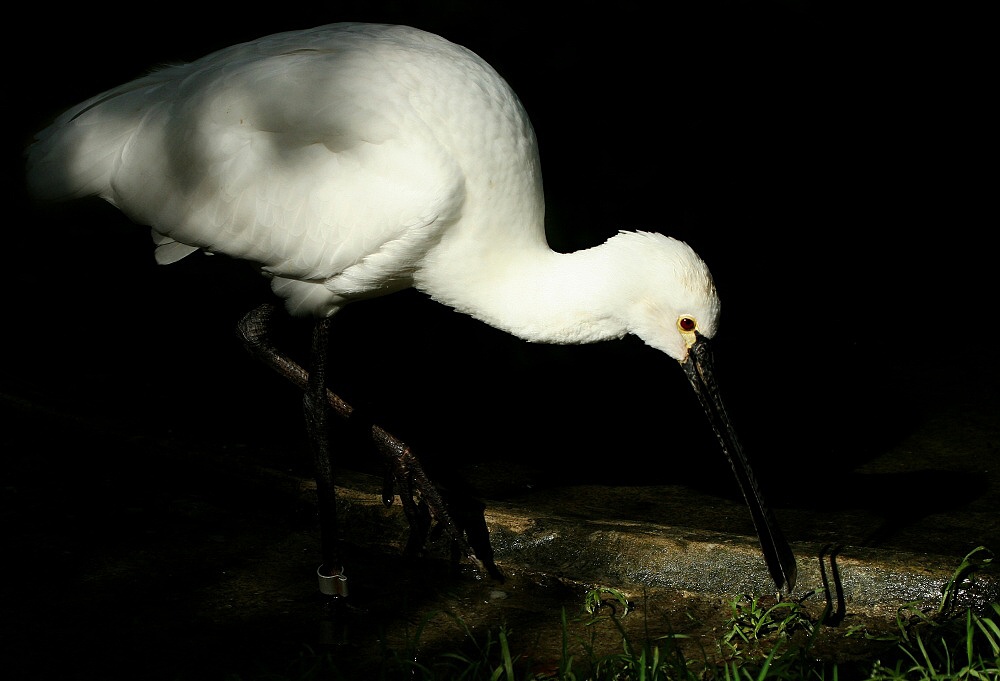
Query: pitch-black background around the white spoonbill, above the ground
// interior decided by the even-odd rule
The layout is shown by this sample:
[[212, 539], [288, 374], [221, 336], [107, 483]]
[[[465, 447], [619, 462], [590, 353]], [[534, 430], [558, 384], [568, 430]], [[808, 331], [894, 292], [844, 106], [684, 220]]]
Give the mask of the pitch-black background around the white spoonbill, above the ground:
[[[723, 298], [721, 387], [770, 485], [876, 455], [921, 399], [991, 390], [981, 21], [675, 5], [35, 8], [8, 47], [5, 394], [307, 466], [298, 396], [233, 333], [266, 285], [222, 258], [157, 267], [147, 230], [100, 202], [31, 205], [20, 154], [61, 110], [158, 63], [344, 20], [425, 28], [498, 69], [535, 125], [554, 248], [641, 228], [703, 255]], [[511, 458], [550, 462], [553, 481], [738, 494], [681, 371], [634, 338], [530, 346], [412, 291], [336, 329], [332, 383], [442, 475], [456, 457]]]

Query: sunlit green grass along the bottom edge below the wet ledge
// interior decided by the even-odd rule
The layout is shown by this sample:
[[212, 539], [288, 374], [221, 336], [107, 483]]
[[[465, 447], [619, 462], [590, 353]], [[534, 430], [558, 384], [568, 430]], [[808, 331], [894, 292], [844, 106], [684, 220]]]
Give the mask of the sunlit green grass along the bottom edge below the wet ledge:
[[[562, 647], [558, 664], [540, 667], [527, 654], [511, 650], [506, 625], [483, 634], [460, 627], [458, 650], [420, 660], [418, 627], [406, 651], [387, 654], [383, 668], [372, 678], [410, 681], [997, 681], [1000, 679], [1000, 603], [959, 606], [979, 575], [993, 563], [985, 547], [967, 554], [942, 587], [936, 608], [907, 604], [899, 609], [896, 631], [870, 635], [857, 627], [844, 631], [824, 624], [824, 614], [809, 616], [801, 601], [774, 603], [744, 596], [728, 603], [729, 618], [715, 649], [691, 658], [684, 652], [686, 637], [677, 635], [633, 640], [623, 622], [635, 611], [627, 596], [601, 587], [587, 593], [580, 613], [561, 613]], [[969, 593], [974, 593], [969, 591]], [[804, 599], [803, 599], [804, 600]], [[607, 625], [620, 639], [620, 651], [599, 654], [596, 643], [607, 636]], [[571, 631], [582, 625], [590, 640], [574, 640]], [[600, 629], [600, 632], [598, 631]], [[647, 630], [648, 631], [648, 630]], [[850, 663], [824, 661], [816, 652], [821, 632], [864, 637], [877, 643], [874, 659]], [[602, 639], [603, 641], [603, 639]], [[578, 656], [574, 651], [582, 651]], [[304, 656], [289, 676], [269, 677], [311, 681], [339, 679], [328, 656]], [[234, 677], [232, 681], [237, 681]]]

